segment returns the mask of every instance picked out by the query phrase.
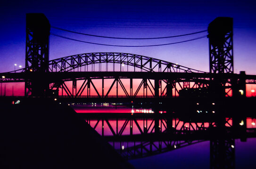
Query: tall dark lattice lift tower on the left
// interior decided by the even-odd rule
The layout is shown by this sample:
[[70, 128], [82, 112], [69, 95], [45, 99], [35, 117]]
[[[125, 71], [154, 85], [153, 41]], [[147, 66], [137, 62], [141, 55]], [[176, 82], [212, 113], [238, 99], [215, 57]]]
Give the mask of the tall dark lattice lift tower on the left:
[[26, 14], [25, 96], [43, 97], [49, 89], [44, 75], [49, 71], [50, 23], [44, 14]]

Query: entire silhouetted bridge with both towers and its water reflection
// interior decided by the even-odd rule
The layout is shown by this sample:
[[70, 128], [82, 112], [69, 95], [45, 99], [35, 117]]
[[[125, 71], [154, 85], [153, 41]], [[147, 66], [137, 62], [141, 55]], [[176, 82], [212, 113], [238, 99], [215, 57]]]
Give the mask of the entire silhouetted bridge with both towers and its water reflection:
[[6, 100], [147, 105], [154, 113], [79, 114], [126, 159], [210, 140], [211, 168], [234, 168], [234, 139], [255, 137], [256, 129], [247, 125], [255, 119], [255, 98], [246, 97], [246, 84], [256, 84], [256, 75], [233, 72], [232, 18], [218, 17], [209, 24], [210, 69], [204, 72], [125, 53], [49, 61], [48, 19], [43, 14], [26, 17], [26, 66], [0, 73], [0, 83], [25, 83], [25, 93]]

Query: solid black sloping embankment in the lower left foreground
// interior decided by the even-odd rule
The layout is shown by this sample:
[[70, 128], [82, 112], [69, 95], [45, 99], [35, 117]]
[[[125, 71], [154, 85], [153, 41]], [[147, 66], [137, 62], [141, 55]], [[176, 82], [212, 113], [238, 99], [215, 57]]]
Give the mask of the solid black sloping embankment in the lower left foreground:
[[74, 110], [54, 101], [0, 103], [1, 169], [130, 169]]

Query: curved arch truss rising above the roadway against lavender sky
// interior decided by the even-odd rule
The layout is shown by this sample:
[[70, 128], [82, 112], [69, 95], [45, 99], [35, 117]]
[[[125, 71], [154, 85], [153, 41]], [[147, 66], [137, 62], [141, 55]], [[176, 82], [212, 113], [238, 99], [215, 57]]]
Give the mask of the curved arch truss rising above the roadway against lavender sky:
[[126, 53], [88, 53], [66, 56], [49, 61], [50, 72], [68, 71], [149, 71], [149, 72], [196, 72], [172, 62]]

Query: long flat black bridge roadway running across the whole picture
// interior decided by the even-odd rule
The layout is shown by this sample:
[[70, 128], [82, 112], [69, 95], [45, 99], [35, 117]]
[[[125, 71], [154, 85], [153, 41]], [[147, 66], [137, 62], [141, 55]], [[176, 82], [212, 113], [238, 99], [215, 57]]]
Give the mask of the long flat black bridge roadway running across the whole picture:
[[[25, 79], [43, 78], [48, 82], [54, 83], [58, 80], [71, 81], [84, 78], [148, 78], [148, 79], [240, 79], [240, 74], [214, 74], [214, 73], [183, 73], [183, 72], [114, 72], [114, 71], [95, 71], [95, 72], [20, 72], [20, 73], [0, 73], [0, 83], [25, 82]], [[3, 78], [4, 77], [4, 78]], [[256, 84], [256, 75], [245, 75], [247, 84]]]

